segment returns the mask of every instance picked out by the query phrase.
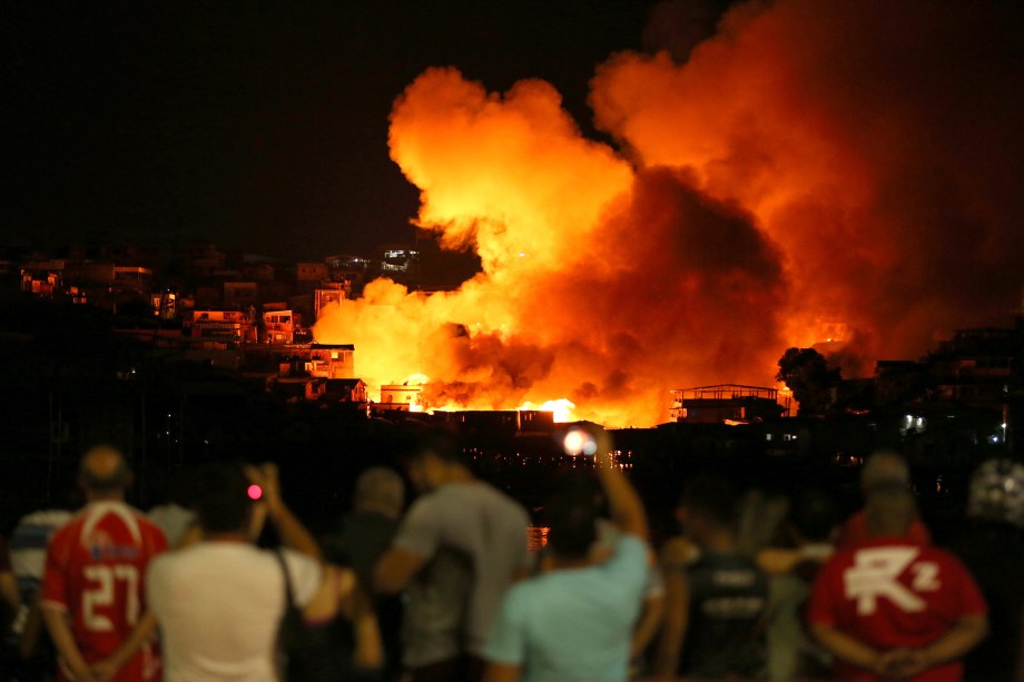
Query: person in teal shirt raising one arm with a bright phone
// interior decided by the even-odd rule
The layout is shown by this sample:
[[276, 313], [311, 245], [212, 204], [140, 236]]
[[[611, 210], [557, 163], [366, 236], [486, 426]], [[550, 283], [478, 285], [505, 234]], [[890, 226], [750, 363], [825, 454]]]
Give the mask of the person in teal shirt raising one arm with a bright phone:
[[486, 682], [627, 679], [649, 580], [647, 521], [640, 497], [610, 461], [607, 434], [591, 437], [619, 531], [609, 537], [611, 555], [592, 554], [599, 533], [593, 496], [557, 496], [547, 507], [541, 573], [509, 591], [491, 633]]

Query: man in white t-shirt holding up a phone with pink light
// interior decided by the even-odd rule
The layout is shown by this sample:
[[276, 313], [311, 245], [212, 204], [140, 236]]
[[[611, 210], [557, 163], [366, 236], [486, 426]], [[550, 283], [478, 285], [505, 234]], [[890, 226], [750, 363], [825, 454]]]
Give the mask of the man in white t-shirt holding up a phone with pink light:
[[[262, 488], [258, 503], [249, 493], [253, 484]], [[163, 635], [164, 679], [278, 680], [285, 572], [293, 602], [313, 623], [331, 621], [358, 596], [354, 574], [322, 563], [316, 541], [282, 500], [274, 465], [244, 471], [227, 463], [211, 465], [195, 504], [201, 538], [154, 562], [147, 584]], [[255, 545], [264, 520], [280, 538], [279, 552]], [[380, 666], [383, 654], [368, 601], [347, 611], [356, 668]], [[337, 674], [345, 679], [343, 671]]]

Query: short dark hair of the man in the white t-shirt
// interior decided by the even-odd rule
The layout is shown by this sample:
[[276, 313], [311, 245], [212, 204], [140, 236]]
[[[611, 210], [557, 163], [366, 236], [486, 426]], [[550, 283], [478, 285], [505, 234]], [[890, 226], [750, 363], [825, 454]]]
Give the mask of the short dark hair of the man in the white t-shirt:
[[234, 462], [211, 462], [196, 476], [195, 511], [199, 525], [210, 533], [245, 530], [253, 511], [248, 495], [249, 481], [242, 465]]

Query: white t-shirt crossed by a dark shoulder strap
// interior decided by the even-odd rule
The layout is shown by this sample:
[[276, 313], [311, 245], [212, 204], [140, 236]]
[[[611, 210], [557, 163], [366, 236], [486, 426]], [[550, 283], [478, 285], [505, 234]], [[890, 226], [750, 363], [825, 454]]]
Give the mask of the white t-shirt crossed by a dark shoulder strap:
[[[284, 551], [298, 605], [321, 583], [318, 563]], [[277, 680], [275, 648], [285, 582], [274, 552], [247, 543], [200, 542], [150, 565], [146, 597], [160, 625], [168, 682]]]

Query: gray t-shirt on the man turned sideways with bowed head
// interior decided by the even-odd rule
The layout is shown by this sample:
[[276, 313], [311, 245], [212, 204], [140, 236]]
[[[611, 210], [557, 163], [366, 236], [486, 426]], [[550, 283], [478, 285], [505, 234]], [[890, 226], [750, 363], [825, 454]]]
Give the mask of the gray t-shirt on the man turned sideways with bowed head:
[[427, 559], [408, 589], [405, 665], [479, 654], [513, 576], [528, 566], [526, 511], [480, 482], [449, 483], [408, 510], [394, 544]]

